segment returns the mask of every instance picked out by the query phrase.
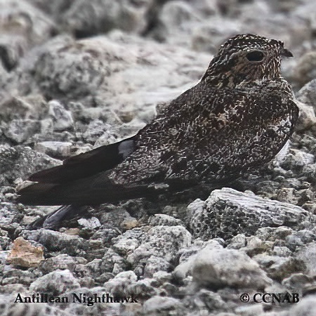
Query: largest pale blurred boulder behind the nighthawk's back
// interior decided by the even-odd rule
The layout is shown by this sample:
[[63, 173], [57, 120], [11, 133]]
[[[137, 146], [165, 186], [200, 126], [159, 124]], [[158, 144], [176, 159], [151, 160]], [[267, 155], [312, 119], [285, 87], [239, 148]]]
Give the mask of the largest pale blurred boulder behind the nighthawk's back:
[[6, 85], [15, 94], [28, 89], [65, 104], [79, 101], [90, 109], [98, 105], [103, 113], [99, 118], [110, 124], [115, 116], [144, 124], [144, 114], [151, 119], [155, 105], [192, 86], [209, 59], [208, 54], [196, 58], [192, 51], [121, 32], [79, 41], [56, 37], [21, 63]]

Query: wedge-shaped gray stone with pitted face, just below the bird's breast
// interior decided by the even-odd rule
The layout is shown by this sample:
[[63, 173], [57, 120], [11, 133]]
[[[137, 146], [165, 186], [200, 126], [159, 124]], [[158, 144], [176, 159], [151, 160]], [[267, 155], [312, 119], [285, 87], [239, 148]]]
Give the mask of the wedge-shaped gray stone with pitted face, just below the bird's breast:
[[187, 209], [193, 237], [204, 240], [230, 239], [240, 233], [252, 235], [265, 226], [297, 228], [302, 220], [311, 219], [301, 207], [227, 187], [213, 190], [205, 202], [197, 199]]

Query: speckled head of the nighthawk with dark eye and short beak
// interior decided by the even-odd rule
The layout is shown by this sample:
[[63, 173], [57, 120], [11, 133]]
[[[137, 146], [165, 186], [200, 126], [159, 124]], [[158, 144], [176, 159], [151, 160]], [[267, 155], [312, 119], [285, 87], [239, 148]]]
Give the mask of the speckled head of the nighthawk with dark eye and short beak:
[[282, 41], [238, 34], [220, 47], [202, 80], [211, 85], [235, 88], [249, 81], [280, 77], [282, 57], [292, 57]]

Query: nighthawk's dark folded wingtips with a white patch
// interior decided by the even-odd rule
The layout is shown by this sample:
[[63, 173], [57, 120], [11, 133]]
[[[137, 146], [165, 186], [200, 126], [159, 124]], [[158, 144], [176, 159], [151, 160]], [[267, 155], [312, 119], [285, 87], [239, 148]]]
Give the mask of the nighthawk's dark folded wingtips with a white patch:
[[96, 205], [100, 199], [114, 202], [121, 186], [107, 178], [107, 171], [124, 161], [136, 149], [136, 143], [137, 136], [126, 138], [70, 157], [61, 166], [34, 173], [29, 177], [34, 183], [18, 190], [17, 202], [32, 205]]

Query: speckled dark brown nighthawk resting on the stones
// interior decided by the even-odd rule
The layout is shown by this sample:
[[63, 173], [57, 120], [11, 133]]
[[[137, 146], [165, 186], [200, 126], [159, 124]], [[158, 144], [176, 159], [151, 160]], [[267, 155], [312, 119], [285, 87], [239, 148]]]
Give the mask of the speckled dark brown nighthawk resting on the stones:
[[298, 119], [294, 91], [280, 70], [288, 57], [282, 41], [230, 37], [199, 82], [136, 135], [32, 174], [17, 202], [61, 205], [41, 223], [49, 228], [84, 206], [225, 185], [259, 169], [284, 147]]

